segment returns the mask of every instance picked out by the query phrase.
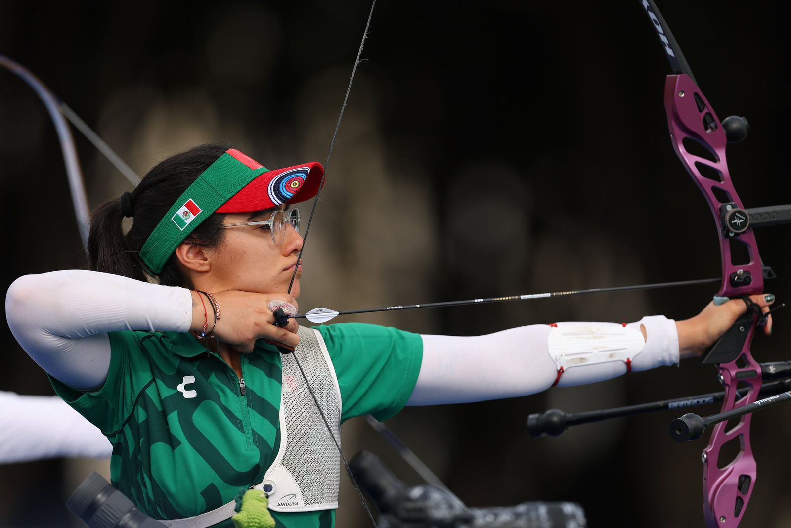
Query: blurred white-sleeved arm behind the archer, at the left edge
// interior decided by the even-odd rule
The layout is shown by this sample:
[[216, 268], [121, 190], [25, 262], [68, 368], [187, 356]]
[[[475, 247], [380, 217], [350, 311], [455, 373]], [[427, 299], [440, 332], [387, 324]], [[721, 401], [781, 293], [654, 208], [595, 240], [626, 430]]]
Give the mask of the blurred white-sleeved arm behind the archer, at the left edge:
[[40, 458], [106, 458], [112, 446], [98, 428], [57, 396], [0, 390], [0, 464]]

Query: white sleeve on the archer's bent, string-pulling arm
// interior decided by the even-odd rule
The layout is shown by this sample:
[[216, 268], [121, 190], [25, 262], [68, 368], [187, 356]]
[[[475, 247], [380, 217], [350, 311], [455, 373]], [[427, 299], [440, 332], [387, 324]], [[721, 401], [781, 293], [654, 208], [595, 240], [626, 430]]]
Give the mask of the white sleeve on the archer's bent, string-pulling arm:
[[6, 318], [41, 368], [69, 387], [91, 390], [107, 379], [107, 332], [186, 332], [192, 300], [184, 288], [94, 271], [54, 271], [14, 281], [6, 294]]

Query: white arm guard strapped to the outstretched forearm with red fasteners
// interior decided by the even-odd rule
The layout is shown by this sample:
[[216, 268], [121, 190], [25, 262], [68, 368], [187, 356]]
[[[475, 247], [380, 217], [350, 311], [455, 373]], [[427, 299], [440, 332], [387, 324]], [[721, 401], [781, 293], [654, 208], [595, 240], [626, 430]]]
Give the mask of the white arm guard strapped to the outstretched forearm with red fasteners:
[[569, 368], [608, 361], [623, 361], [631, 370], [634, 356], [645, 346], [639, 326], [615, 322], [558, 322], [552, 326], [547, 349], [558, 366], [558, 379]]

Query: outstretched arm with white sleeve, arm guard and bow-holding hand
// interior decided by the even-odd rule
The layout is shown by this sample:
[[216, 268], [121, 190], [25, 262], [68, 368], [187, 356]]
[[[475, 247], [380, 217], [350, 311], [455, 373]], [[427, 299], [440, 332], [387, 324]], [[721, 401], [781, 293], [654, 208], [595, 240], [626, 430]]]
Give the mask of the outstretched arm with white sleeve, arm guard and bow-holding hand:
[[[766, 311], [774, 297], [752, 300]], [[746, 310], [743, 300], [731, 300], [679, 322], [659, 315], [627, 325], [561, 322], [473, 337], [422, 335], [422, 364], [407, 405], [514, 398], [678, 364], [701, 355]]]

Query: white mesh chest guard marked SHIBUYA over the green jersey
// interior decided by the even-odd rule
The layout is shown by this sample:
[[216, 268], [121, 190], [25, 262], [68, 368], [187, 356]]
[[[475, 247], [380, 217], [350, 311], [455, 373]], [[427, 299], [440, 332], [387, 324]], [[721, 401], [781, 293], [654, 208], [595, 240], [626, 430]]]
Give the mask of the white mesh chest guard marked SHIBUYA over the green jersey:
[[300, 326], [296, 354], [338, 444], [335, 445], [293, 354], [282, 354], [280, 450], [256, 488], [274, 511], [338, 507], [341, 394], [335, 368], [318, 330]]

